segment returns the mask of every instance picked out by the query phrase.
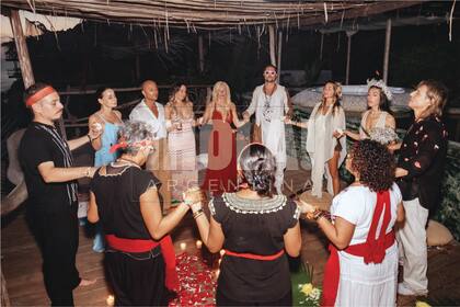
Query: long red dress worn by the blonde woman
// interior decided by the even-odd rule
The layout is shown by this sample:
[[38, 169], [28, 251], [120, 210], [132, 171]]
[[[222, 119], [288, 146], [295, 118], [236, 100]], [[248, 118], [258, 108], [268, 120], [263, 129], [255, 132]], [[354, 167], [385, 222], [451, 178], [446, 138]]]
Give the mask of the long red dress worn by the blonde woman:
[[212, 111], [212, 132], [208, 145], [208, 167], [202, 189], [214, 195], [237, 190], [237, 138], [231, 130], [231, 112]]

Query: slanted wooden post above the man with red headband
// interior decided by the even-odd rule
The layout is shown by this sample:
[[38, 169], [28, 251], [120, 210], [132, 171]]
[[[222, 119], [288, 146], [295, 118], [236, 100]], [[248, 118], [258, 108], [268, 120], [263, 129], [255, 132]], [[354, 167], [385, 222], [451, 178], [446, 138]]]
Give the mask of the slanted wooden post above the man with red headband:
[[27, 44], [24, 32], [22, 31], [21, 19], [18, 10], [11, 10], [11, 29], [13, 30], [14, 43], [16, 44], [18, 59], [21, 67], [24, 89], [35, 83], [34, 72], [32, 70], [31, 58], [28, 57]]

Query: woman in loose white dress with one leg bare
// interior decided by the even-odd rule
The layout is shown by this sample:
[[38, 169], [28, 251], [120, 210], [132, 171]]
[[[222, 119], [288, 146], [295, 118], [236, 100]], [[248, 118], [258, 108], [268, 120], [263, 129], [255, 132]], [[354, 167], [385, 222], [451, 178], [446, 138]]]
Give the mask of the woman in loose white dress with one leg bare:
[[287, 124], [308, 128], [307, 152], [311, 159], [311, 194], [322, 197], [323, 177], [327, 178], [327, 192], [336, 195], [341, 191], [338, 168], [345, 160], [346, 141], [345, 112], [341, 106], [342, 87], [327, 81], [323, 88], [323, 98], [319, 102], [308, 122], [299, 123], [287, 120]]

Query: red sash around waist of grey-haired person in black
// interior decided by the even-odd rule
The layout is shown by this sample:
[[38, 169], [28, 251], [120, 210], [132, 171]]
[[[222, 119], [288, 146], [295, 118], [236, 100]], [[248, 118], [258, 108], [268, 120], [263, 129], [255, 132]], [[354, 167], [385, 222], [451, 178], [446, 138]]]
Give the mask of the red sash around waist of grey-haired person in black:
[[170, 291], [179, 291], [179, 277], [177, 272], [175, 271], [175, 252], [171, 236], [164, 236], [160, 241], [153, 241], [141, 239], [125, 239], [118, 238], [114, 235], [106, 235], [105, 240], [111, 248], [124, 252], [146, 252], [160, 245], [161, 254], [163, 255], [165, 265], [164, 285]]

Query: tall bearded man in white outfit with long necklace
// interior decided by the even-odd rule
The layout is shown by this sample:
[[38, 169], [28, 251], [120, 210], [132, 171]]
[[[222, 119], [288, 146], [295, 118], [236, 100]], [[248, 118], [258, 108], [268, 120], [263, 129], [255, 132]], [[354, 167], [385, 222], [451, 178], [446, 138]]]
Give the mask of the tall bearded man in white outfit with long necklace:
[[276, 159], [275, 187], [281, 194], [284, 171], [286, 168], [285, 118], [290, 117], [292, 107], [285, 87], [278, 84], [276, 67], [268, 65], [264, 70], [265, 83], [255, 88], [252, 101], [243, 113], [249, 120], [255, 112], [254, 132], [261, 130], [262, 144], [273, 152]]

